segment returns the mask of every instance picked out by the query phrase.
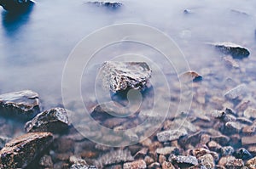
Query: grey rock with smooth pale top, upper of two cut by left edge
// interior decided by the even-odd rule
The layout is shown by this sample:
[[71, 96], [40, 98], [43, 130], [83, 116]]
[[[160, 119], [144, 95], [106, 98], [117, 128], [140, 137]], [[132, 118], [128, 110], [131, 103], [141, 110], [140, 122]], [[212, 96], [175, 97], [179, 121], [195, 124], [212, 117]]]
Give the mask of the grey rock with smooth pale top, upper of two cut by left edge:
[[40, 112], [38, 93], [24, 90], [0, 95], [0, 115], [31, 120]]

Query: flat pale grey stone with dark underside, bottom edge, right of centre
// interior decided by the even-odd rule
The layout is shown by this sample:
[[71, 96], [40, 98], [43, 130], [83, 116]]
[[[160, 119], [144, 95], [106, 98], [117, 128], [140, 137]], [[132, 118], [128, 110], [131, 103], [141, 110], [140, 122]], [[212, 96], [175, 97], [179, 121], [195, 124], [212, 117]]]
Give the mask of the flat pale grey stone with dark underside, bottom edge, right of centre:
[[[171, 156], [170, 156], [171, 157]], [[198, 165], [198, 161], [195, 156], [184, 156], [184, 155], [177, 155], [172, 156], [171, 159], [169, 157], [169, 161], [172, 163], [175, 162], [177, 165], [188, 165], [188, 166], [196, 166]]]

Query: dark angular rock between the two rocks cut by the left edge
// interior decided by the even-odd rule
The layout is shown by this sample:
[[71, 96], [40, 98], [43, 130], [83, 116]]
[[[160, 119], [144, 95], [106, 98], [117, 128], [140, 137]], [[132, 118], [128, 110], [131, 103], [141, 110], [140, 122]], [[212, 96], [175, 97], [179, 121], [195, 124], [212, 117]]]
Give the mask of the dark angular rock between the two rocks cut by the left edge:
[[35, 116], [32, 121], [27, 121], [26, 132], [63, 132], [70, 125], [67, 111], [63, 108], [53, 108]]

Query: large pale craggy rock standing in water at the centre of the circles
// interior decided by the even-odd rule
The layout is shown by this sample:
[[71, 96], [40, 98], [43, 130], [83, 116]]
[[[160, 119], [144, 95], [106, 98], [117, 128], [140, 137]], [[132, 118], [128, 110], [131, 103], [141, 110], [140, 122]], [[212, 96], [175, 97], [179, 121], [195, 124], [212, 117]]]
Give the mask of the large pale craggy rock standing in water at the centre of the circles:
[[103, 63], [100, 75], [103, 86], [113, 93], [133, 88], [143, 90], [149, 87], [151, 69], [145, 62], [113, 62]]

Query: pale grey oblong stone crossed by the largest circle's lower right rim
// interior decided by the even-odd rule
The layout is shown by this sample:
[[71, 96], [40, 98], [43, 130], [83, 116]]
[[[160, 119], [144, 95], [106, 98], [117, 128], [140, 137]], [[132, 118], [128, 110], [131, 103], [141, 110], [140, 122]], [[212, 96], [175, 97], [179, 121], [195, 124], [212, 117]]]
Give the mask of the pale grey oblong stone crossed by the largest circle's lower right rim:
[[164, 132], [159, 132], [156, 134], [157, 139], [160, 142], [172, 141], [177, 140], [183, 136], [186, 136], [188, 132], [185, 129], [180, 130], [168, 130]]

